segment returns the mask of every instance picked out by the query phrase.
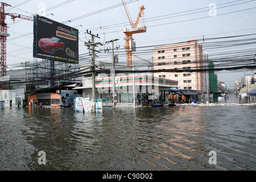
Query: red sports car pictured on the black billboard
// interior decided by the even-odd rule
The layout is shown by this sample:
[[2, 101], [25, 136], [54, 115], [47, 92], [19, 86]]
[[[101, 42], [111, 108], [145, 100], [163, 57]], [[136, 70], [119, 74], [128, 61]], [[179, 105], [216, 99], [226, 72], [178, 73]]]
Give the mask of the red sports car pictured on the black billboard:
[[43, 38], [39, 40], [39, 47], [45, 52], [53, 54], [57, 49], [64, 49], [64, 42], [59, 38]]

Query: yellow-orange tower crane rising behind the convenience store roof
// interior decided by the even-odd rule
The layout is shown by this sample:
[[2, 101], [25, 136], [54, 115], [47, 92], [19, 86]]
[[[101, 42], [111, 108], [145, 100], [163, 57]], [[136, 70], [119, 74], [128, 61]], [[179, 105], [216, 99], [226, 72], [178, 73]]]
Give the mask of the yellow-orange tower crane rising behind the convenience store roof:
[[[123, 33], [125, 33], [125, 48], [126, 48], [126, 63], [127, 67], [132, 67], [132, 51], [130, 48], [130, 41], [133, 40], [133, 34], [138, 34], [142, 32], [146, 32], [146, 26], [144, 26], [144, 6], [141, 6], [139, 9], [139, 15], [135, 23], [133, 23], [133, 20], [131, 19], [131, 15], [128, 11], [128, 8], [126, 6], [125, 0], [122, 0], [123, 6], [125, 7], [126, 14], [128, 16], [129, 22], [131, 24], [131, 29], [127, 29], [126, 27], [123, 28]], [[139, 19], [143, 15], [143, 26], [137, 28]]]

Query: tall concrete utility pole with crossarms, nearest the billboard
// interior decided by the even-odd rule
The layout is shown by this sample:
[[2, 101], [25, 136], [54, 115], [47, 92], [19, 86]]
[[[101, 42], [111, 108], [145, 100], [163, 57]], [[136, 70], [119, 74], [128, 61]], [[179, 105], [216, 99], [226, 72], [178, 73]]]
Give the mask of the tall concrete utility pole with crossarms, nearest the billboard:
[[[95, 101], [96, 101], [96, 89], [95, 89], [95, 46], [97, 46], [98, 44], [101, 44], [100, 42], [96, 42], [94, 43], [94, 37], [100, 39], [100, 37], [97, 35], [94, 35], [92, 34], [91, 31], [88, 31], [86, 30], [86, 34], [89, 34], [92, 36], [92, 43], [86, 43], [85, 42], [85, 46], [88, 47], [88, 49], [90, 49], [92, 51], [92, 99], [93, 99], [93, 102], [94, 102], [94, 105], [93, 105], [93, 112], [95, 112]], [[90, 46], [92, 46], [92, 48], [89, 48]], [[99, 51], [96, 51], [96, 52], [99, 52]]]

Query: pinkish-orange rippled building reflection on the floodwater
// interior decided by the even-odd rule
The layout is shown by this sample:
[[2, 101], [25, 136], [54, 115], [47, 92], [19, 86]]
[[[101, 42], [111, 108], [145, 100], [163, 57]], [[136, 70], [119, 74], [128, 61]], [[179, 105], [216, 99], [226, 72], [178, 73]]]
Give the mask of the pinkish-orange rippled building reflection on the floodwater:
[[[205, 130], [204, 124], [201, 123], [202, 117], [199, 108], [195, 107], [188, 111], [185, 107], [171, 107], [166, 110], [160, 109], [156, 115], [153, 114], [154, 112], [155, 110], [152, 110], [152, 113], [147, 113], [147, 115], [150, 114], [151, 121], [158, 118], [158, 122], [154, 122], [153, 130], [157, 133], [150, 133], [151, 140], [147, 144], [147, 146], [154, 145], [154, 147], [150, 147], [152, 150], [150, 148], [144, 150], [147, 151], [145, 152], [147, 156], [161, 160], [158, 164], [154, 163], [154, 168], [187, 169], [188, 166], [180, 163], [180, 159], [188, 160], [187, 163], [197, 162], [195, 156], [198, 157], [200, 152], [205, 151], [204, 148], [200, 147], [203, 143], [193, 140]], [[154, 138], [153, 141], [152, 138]], [[150, 160], [145, 160], [148, 167], [152, 166]]]

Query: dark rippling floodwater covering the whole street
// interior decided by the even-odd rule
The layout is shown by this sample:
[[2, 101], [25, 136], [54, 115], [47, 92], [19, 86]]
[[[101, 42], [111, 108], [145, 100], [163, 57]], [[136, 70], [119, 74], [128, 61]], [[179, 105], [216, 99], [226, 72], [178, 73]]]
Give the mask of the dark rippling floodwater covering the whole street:
[[[6, 108], [0, 170], [254, 171], [255, 111], [255, 105], [105, 107], [94, 114]], [[39, 164], [39, 151], [46, 164]]]

